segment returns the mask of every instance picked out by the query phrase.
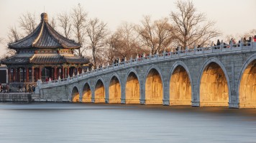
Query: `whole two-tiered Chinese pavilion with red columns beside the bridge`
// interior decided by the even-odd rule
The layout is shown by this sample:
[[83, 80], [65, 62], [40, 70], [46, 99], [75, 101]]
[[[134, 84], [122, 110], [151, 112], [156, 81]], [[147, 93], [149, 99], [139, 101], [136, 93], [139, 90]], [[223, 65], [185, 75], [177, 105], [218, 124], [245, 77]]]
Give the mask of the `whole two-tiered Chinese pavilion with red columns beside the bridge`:
[[7, 65], [9, 83], [35, 83], [38, 79], [57, 80], [67, 78], [88, 65], [88, 59], [73, 54], [81, 45], [68, 40], [48, 24], [46, 13], [34, 32], [14, 43], [9, 48], [17, 54], [2, 61]]

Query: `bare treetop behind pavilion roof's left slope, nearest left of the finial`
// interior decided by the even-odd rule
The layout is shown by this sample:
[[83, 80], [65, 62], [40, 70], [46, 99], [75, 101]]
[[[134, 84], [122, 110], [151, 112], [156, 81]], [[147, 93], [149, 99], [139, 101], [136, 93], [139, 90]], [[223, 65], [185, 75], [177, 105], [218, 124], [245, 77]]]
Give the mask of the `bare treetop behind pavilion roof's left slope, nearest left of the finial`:
[[26, 14], [22, 14], [22, 16], [19, 17], [19, 27], [21, 27], [26, 34], [32, 33], [37, 27], [35, 13], [27, 12]]

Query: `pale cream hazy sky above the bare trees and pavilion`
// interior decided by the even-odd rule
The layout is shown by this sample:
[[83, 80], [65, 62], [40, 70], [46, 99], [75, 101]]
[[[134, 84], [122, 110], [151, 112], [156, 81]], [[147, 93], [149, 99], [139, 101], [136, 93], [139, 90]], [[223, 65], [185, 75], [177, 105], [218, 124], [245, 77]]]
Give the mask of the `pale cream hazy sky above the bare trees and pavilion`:
[[[19, 17], [27, 11], [35, 13], [40, 22], [44, 11], [50, 18], [81, 4], [88, 18], [97, 17], [114, 31], [122, 22], [140, 24], [144, 15], [153, 20], [169, 17], [170, 11], [176, 11], [174, 3], [175, 0], [0, 0], [0, 37], [6, 38], [9, 27], [18, 27]], [[223, 37], [256, 29], [256, 0], [193, 0], [193, 3], [207, 19], [216, 22], [216, 29]], [[6, 45], [6, 42], [0, 44], [0, 56], [6, 53]]]

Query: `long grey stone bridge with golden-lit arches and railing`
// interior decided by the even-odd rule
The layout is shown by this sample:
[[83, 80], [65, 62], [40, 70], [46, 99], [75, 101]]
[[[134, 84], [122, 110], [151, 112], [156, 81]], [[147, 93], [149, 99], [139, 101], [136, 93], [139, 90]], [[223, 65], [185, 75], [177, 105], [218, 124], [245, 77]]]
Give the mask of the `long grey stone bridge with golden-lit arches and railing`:
[[35, 101], [256, 107], [256, 42], [163, 52], [37, 81]]

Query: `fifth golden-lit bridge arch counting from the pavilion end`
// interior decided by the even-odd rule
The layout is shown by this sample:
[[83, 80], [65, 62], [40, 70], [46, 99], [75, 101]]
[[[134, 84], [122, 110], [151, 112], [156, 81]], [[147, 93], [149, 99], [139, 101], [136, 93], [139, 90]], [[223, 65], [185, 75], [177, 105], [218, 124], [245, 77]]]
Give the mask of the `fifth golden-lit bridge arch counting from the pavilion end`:
[[125, 75], [125, 103], [140, 103], [140, 77], [134, 68], [130, 69]]

